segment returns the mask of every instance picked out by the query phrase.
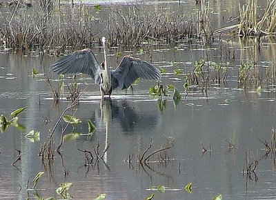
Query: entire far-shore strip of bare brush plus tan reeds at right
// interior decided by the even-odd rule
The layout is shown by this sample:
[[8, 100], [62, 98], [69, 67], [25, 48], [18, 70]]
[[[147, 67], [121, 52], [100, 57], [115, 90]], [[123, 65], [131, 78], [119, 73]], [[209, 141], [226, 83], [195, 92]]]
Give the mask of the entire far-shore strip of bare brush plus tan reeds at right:
[[[31, 3], [30, 3], [31, 2]], [[164, 4], [90, 5], [64, 1], [0, 2], [0, 46], [11, 49], [75, 49], [99, 43], [108, 35], [109, 47], [141, 46], [198, 39], [211, 43], [214, 34], [230, 32], [239, 37], [276, 35], [276, 0], [268, 0], [263, 16], [257, 14], [257, 0], [239, 6], [239, 23], [213, 30], [209, 1], [195, 5], [195, 12], [179, 14]], [[103, 12], [101, 14], [100, 12]]]

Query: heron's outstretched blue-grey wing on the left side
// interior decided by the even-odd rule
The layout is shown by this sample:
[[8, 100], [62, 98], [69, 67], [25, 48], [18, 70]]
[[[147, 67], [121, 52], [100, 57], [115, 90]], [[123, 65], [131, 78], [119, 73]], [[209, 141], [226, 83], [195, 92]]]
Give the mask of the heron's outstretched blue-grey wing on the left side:
[[72, 52], [52, 63], [52, 69], [58, 74], [89, 74], [98, 84], [102, 71], [95, 54], [88, 48]]

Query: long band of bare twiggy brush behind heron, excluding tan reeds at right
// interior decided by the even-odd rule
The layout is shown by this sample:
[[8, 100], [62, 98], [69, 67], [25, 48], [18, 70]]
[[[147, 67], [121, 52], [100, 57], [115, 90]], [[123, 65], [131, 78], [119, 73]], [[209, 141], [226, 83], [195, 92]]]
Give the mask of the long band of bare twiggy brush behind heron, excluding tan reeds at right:
[[150, 39], [170, 42], [196, 34], [192, 17], [144, 3], [111, 5], [104, 8], [110, 10], [108, 14], [100, 14], [99, 5], [39, 0], [27, 6], [23, 1], [14, 2], [1, 6], [0, 46], [6, 48], [90, 47], [107, 33], [110, 46], [139, 46]]

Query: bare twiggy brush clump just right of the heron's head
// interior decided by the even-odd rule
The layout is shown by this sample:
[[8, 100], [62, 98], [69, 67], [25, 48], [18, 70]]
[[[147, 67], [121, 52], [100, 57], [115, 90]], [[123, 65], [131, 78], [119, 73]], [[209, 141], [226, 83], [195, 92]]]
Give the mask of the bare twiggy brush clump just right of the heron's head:
[[196, 36], [192, 17], [169, 9], [146, 5], [111, 7], [108, 35], [112, 45], [139, 46], [148, 41], [177, 41]]

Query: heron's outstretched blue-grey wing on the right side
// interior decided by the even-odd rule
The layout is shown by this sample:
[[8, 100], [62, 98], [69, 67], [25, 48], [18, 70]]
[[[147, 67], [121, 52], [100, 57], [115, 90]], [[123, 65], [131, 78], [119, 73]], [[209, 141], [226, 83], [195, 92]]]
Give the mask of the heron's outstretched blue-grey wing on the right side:
[[146, 61], [126, 56], [116, 70], [112, 71], [112, 88], [121, 90], [128, 88], [136, 79], [159, 80], [161, 77], [159, 69]]

